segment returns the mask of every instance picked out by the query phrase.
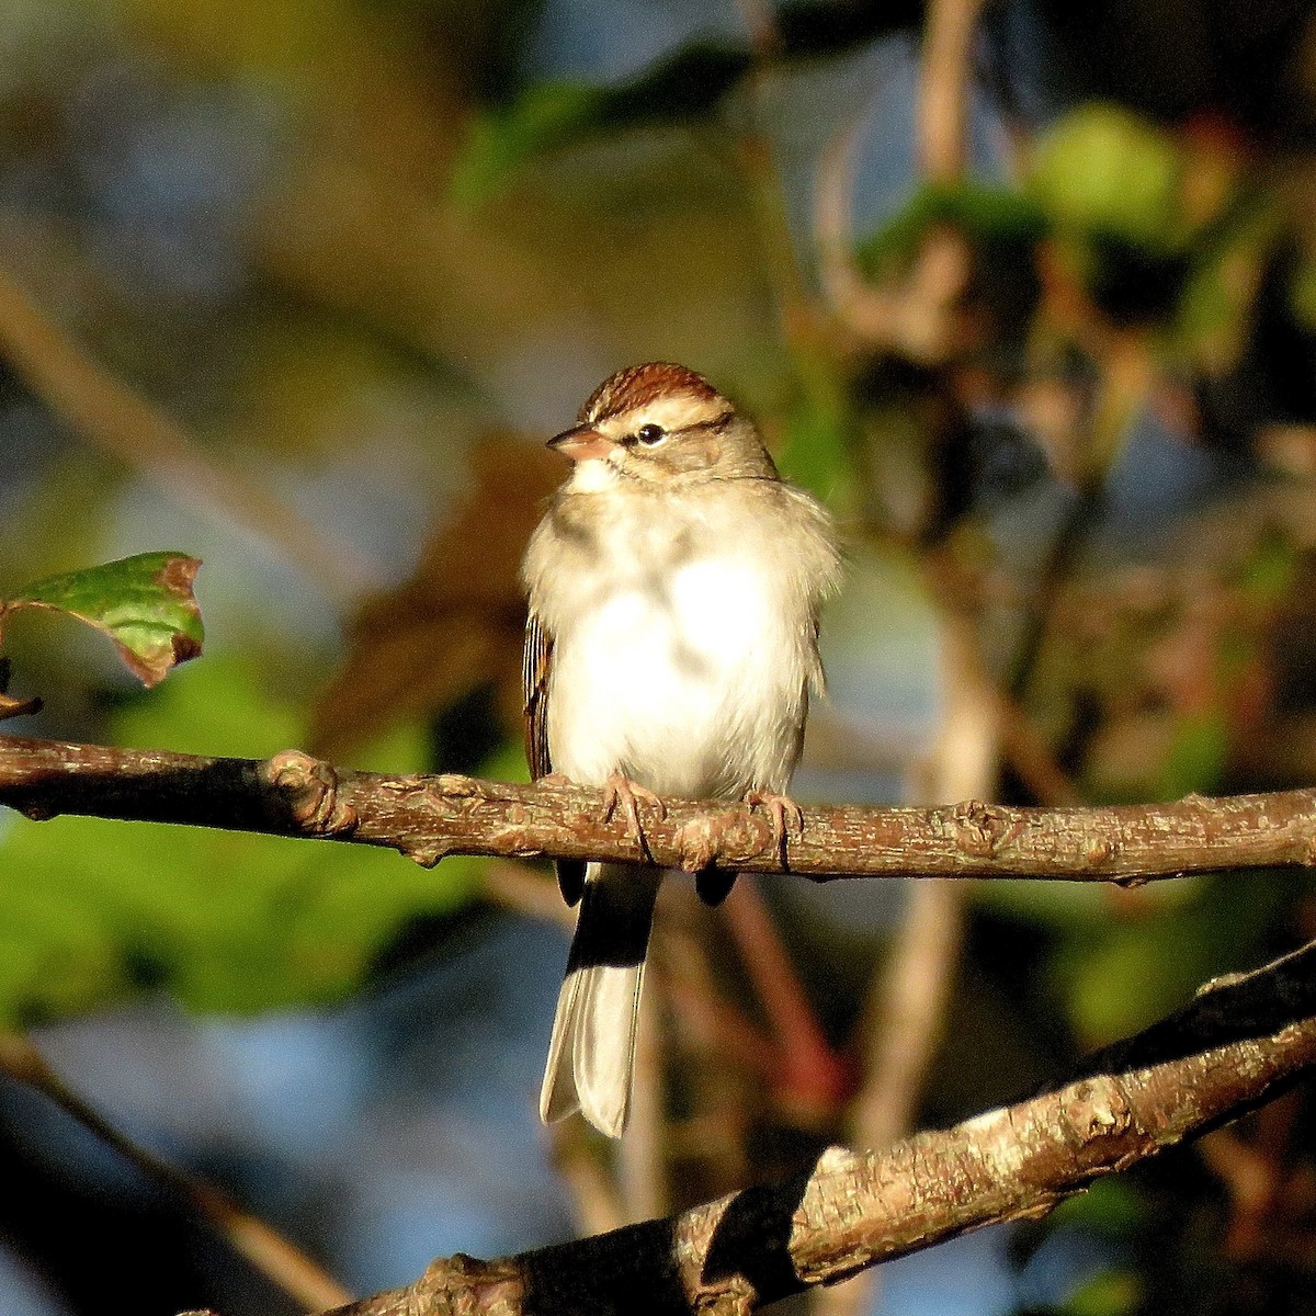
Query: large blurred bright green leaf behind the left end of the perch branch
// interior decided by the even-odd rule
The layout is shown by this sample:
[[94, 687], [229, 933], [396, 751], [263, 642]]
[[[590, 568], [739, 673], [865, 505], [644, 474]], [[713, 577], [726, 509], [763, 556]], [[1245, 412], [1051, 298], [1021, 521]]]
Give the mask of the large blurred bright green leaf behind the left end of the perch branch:
[[[114, 715], [118, 742], [267, 755], [299, 709], [249, 666], [211, 657]], [[366, 761], [422, 766], [420, 730]], [[103, 1007], [143, 990], [251, 1012], [341, 998], [420, 915], [455, 909], [483, 861], [433, 870], [387, 850], [103, 819], [0, 819], [0, 1024]]]

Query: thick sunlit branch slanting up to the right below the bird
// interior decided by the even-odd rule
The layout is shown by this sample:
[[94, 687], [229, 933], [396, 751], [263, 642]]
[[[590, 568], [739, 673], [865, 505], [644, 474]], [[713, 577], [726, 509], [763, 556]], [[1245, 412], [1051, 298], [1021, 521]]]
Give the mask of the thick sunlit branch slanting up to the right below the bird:
[[1070, 1082], [782, 1183], [494, 1262], [457, 1255], [338, 1316], [744, 1313], [982, 1225], [1207, 1132], [1316, 1065], [1316, 944], [1208, 984]]

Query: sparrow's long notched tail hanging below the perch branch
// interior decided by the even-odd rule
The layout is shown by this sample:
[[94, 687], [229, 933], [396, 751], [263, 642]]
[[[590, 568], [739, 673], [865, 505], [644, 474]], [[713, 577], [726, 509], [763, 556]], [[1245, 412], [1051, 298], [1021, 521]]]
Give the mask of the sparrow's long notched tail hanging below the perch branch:
[[640, 987], [661, 880], [661, 869], [622, 863], [591, 863], [586, 871], [540, 1091], [545, 1124], [580, 1111], [609, 1138], [626, 1128]]

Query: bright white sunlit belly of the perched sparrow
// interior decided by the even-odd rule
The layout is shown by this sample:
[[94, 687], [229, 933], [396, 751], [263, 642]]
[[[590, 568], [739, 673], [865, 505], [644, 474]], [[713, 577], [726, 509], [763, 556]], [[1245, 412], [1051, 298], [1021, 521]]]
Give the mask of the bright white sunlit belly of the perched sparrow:
[[554, 767], [594, 783], [620, 771], [667, 795], [784, 788], [804, 697], [787, 620], [751, 561], [600, 591], [554, 650]]

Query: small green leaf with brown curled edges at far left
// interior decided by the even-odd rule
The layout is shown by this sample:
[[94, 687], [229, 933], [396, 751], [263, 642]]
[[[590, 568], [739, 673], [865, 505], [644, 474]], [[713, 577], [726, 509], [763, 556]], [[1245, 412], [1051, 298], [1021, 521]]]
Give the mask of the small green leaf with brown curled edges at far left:
[[183, 553], [139, 553], [86, 571], [46, 576], [0, 600], [0, 622], [20, 608], [46, 608], [103, 630], [145, 686], [201, 651], [201, 612], [192, 595], [200, 567]]

